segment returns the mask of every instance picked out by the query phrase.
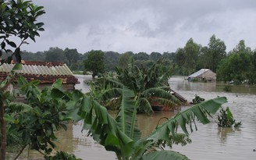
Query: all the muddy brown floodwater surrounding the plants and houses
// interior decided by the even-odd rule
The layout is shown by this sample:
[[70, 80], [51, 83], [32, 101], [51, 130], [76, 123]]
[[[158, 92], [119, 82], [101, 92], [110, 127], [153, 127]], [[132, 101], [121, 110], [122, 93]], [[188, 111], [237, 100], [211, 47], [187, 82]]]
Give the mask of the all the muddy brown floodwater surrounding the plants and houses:
[[[84, 80], [90, 80], [90, 76], [76, 76], [80, 84], [76, 89], [84, 92], [89, 91]], [[197, 123], [197, 131], [190, 133], [191, 144], [186, 146], [173, 145], [172, 150], [179, 151], [187, 155], [191, 160], [235, 160], [235, 159], [256, 159], [256, 87], [231, 86], [231, 92], [223, 91], [226, 84], [215, 83], [193, 83], [183, 80], [182, 77], [172, 77], [169, 84], [174, 91], [177, 91], [188, 101], [192, 101], [195, 94], [206, 100], [225, 96], [233, 112], [236, 122], [242, 123], [240, 129], [219, 128], [217, 126], [217, 117], [212, 118], [212, 123], [202, 125]], [[182, 109], [187, 108], [184, 106]], [[112, 112], [112, 114], [114, 114]], [[158, 121], [164, 121], [162, 117], [170, 118], [176, 112], [155, 112], [152, 116], [139, 115], [138, 125], [142, 136], [147, 136], [151, 130], [155, 129]], [[116, 155], [113, 152], [105, 151], [100, 144], [95, 142], [87, 133], [81, 132], [82, 124], [69, 124], [69, 130], [59, 132], [59, 142], [57, 143], [59, 151], [68, 151], [76, 155], [76, 158], [84, 160], [114, 160]], [[166, 148], [169, 149], [169, 148]]]

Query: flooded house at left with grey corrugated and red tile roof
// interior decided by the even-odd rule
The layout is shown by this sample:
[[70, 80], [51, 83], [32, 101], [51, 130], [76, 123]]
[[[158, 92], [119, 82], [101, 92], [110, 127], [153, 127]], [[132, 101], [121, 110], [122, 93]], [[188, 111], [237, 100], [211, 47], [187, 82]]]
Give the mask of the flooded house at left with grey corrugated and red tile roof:
[[[62, 79], [62, 88], [64, 91], [72, 91], [75, 89], [76, 84], [80, 84], [65, 63], [22, 61], [22, 64], [23, 68], [17, 70], [16, 73], [20, 73], [27, 81], [39, 80], [40, 84], [37, 87], [40, 89], [51, 86], [59, 78]], [[3, 63], [0, 66], [1, 81], [5, 80], [14, 65], [14, 63]]]

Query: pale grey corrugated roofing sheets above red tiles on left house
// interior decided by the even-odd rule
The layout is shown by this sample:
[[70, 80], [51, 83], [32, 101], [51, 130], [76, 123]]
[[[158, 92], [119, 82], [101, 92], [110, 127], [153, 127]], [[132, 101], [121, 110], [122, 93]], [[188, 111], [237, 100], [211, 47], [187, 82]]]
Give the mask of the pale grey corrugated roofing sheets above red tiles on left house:
[[[0, 66], [0, 72], [9, 73], [14, 64], [3, 63]], [[73, 75], [71, 70], [66, 64], [62, 66], [36, 66], [23, 64], [23, 68], [18, 70], [17, 73], [33, 74], [33, 75], [51, 75], [51, 76], [68, 76]]]

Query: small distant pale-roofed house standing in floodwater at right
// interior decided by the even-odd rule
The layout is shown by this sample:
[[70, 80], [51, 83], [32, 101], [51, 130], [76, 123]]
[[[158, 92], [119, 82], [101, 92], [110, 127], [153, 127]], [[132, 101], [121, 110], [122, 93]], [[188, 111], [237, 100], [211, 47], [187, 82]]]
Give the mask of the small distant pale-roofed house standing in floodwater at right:
[[212, 72], [211, 69], [200, 69], [196, 73], [188, 76], [187, 80], [216, 81], [216, 73]]

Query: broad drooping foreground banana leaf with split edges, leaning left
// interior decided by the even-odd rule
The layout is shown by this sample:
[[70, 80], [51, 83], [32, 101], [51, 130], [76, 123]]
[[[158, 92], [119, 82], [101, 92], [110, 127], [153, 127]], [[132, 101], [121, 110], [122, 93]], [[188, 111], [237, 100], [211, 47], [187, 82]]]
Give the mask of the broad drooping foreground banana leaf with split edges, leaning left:
[[74, 102], [67, 104], [70, 111], [68, 114], [78, 114], [84, 119], [84, 129], [93, 133], [94, 140], [105, 146], [107, 151], [115, 151], [117, 155], [130, 155], [134, 141], [119, 129], [118, 123], [108, 114], [107, 109], [80, 91], [73, 92], [73, 98]]

